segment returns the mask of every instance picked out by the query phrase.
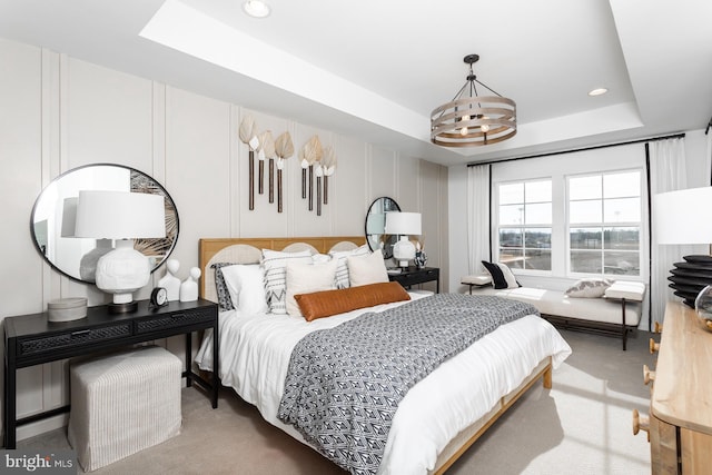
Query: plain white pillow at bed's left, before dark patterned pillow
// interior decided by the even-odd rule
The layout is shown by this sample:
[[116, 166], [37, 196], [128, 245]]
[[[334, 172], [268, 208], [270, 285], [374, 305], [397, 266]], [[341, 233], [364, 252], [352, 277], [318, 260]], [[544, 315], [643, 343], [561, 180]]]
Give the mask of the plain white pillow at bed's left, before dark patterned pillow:
[[259, 264], [235, 264], [221, 270], [235, 308], [247, 315], [267, 311], [265, 274]]

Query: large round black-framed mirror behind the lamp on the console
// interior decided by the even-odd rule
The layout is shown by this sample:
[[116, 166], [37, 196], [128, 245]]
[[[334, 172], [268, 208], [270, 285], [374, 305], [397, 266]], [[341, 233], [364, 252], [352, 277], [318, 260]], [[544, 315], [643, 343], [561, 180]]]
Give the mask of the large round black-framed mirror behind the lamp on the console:
[[131, 191], [161, 195], [166, 206], [166, 237], [136, 239], [134, 247], [149, 257], [151, 271], [170, 255], [178, 240], [178, 211], [166, 189], [154, 178], [134, 168], [112, 164], [87, 165], [71, 169], [47, 186], [37, 198], [30, 218], [32, 239], [40, 254], [60, 273], [93, 284], [91, 266], [82, 257], [98, 248], [112, 246], [106, 239], [76, 238], [75, 218], [80, 190]]

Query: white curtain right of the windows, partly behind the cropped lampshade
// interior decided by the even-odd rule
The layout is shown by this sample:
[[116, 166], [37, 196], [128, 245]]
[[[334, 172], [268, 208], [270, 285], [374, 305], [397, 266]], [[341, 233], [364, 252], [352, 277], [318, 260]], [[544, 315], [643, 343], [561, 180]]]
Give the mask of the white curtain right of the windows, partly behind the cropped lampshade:
[[[683, 138], [657, 140], [649, 144], [650, 196], [688, 188], [685, 146]], [[654, 206], [654, 201], [653, 206]], [[651, 220], [655, 214], [651, 209]], [[651, 222], [651, 227], [652, 227]], [[651, 246], [650, 305], [653, 321], [661, 323], [669, 300], [679, 299], [668, 286], [670, 269], [682, 256], [693, 254], [693, 246], [659, 245], [653, 232]], [[650, 328], [649, 328], [650, 329]]]

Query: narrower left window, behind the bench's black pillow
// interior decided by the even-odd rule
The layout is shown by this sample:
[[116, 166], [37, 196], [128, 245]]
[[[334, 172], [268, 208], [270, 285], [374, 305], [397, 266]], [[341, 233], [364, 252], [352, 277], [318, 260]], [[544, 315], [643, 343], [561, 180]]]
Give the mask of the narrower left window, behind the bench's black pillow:
[[552, 269], [552, 181], [498, 186], [500, 261], [515, 269]]

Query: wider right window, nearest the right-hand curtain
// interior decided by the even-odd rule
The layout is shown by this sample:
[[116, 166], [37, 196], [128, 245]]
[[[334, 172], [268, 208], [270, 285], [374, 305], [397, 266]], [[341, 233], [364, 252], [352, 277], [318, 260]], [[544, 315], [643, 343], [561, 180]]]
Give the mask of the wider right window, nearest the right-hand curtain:
[[641, 172], [568, 178], [568, 269], [640, 276]]

